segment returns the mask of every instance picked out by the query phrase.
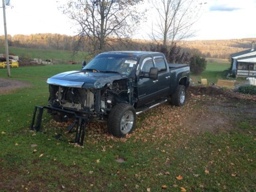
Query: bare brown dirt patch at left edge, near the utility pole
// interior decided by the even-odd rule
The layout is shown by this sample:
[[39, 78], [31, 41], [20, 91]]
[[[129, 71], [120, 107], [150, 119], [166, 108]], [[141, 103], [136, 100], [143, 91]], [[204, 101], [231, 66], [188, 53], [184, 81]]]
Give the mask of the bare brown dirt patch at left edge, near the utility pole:
[[8, 94], [16, 89], [29, 86], [29, 82], [0, 78], [0, 95]]

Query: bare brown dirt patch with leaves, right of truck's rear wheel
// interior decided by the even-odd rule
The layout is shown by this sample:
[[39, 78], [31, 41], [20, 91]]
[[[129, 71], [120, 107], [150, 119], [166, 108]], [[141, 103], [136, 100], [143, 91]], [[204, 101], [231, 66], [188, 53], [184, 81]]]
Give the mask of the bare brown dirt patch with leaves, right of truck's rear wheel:
[[192, 131], [230, 131], [236, 129], [236, 122], [256, 116], [256, 97], [253, 95], [215, 87], [191, 87], [188, 96], [198, 105], [198, 109], [183, 122]]

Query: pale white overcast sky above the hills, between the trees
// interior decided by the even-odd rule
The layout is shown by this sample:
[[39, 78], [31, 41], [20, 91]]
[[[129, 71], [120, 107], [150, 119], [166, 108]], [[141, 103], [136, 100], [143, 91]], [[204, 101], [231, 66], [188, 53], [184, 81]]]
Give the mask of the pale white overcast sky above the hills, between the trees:
[[[58, 10], [56, 0], [10, 0], [6, 9], [8, 34], [60, 33], [75, 34], [72, 21]], [[66, 0], [59, 0], [65, 3]], [[191, 39], [229, 39], [256, 37], [256, 0], [205, 0], [204, 11]], [[2, 1], [0, 2], [2, 5]], [[2, 6], [1, 6], [2, 7]], [[154, 18], [154, 14], [149, 14]], [[135, 38], [145, 38], [146, 25]], [[3, 11], [0, 13], [0, 35], [4, 34]]]

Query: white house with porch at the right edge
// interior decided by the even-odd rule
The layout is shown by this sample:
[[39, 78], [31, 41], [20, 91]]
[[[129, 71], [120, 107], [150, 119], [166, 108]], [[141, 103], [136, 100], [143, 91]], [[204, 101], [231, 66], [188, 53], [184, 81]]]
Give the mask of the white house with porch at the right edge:
[[253, 77], [256, 76], [256, 49], [254, 41], [251, 49], [233, 53], [231, 57], [231, 72], [234, 77]]

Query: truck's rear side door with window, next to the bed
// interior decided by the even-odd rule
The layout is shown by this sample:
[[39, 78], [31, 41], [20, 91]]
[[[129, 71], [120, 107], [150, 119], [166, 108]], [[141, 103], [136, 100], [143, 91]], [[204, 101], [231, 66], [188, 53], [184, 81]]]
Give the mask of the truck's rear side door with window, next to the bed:
[[164, 98], [168, 95], [170, 89], [170, 71], [168, 64], [165, 62], [163, 56], [155, 56], [154, 62], [158, 68], [158, 96]]

